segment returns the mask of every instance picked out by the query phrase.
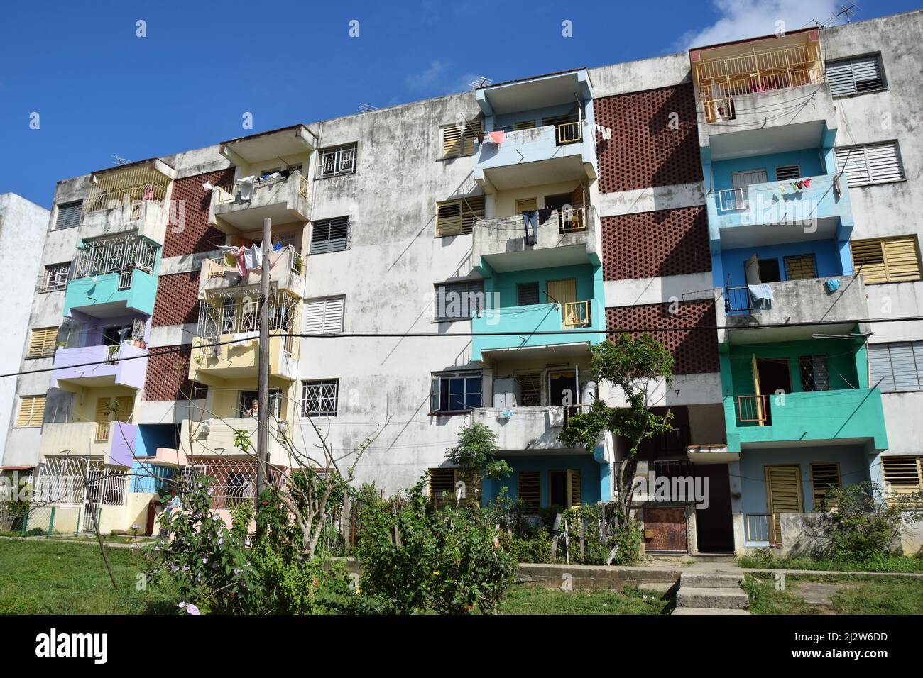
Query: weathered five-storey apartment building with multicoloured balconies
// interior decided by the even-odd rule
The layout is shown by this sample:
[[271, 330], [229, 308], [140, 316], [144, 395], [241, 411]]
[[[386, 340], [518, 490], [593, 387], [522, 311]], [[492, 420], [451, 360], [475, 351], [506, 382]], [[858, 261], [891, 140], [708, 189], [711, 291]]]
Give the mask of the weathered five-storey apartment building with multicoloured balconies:
[[832, 486], [918, 489], [923, 327], [869, 320], [923, 315], [921, 23], [529, 77], [61, 182], [42, 263], [72, 264], [30, 319], [57, 348], [23, 362], [54, 372], [18, 379], [3, 464], [39, 467], [66, 529], [90, 509], [150, 529], [186, 470], [226, 516], [255, 487], [234, 439], [256, 434], [270, 275], [270, 480], [280, 438], [349, 458], [380, 432], [356, 482], [390, 494], [431, 470], [437, 499], [480, 422], [513, 469], [468, 487], [481, 501], [608, 500], [624, 441], [557, 435], [592, 398], [617, 405], [590, 348], [644, 330], [675, 357], [657, 394], [675, 430], [638, 475], [709, 488], [707, 506], [638, 495], [648, 551], [790, 545]]

